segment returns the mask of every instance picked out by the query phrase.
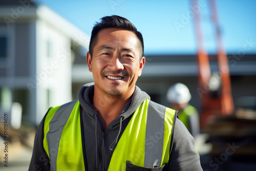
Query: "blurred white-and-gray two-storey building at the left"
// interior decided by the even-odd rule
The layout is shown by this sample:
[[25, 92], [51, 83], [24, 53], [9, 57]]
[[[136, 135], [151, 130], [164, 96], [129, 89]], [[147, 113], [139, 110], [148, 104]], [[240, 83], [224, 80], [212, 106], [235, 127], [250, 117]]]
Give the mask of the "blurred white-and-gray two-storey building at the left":
[[0, 89], [2, 104], [19, 102], [23, 122], [38, 125], [50, 106], [72, 100], [74, 59], [90, 37], [33, 2], [0, 2]]

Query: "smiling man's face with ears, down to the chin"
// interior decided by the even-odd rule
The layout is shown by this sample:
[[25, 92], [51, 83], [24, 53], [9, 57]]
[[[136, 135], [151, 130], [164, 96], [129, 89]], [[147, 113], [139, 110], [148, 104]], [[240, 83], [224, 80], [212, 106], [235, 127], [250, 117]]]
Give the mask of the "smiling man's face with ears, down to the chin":
[[98, 33], [93, 56], [87, 53], [94, 90], [112, 96], [130, 97], [141, 75], [145, 58], [140, 61], [136, 35], [122, 29], [103, 29]]

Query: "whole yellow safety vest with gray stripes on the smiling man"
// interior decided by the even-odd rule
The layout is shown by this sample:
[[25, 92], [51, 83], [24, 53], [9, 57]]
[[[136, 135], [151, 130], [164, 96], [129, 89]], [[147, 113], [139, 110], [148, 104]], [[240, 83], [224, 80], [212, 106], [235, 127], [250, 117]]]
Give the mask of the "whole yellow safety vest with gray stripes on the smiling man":
[[[134, 112], [114, 149], [108, 170], [168, 163], [175, 111], [146, 99]], [[44, 148], [51, 170], [85, 170], [78, 100], [51, 108], [45, 117]]]

